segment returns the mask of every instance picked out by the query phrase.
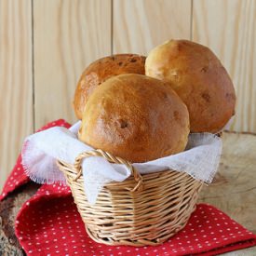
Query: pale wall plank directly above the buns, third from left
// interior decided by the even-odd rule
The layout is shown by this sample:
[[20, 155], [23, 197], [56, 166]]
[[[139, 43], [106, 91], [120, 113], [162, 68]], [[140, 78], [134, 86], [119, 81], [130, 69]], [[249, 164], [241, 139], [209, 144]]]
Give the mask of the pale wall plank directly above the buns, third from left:
[[114, 53], [147, 55], [171, 38], [190, 38], [190, 0], [114, 0]]

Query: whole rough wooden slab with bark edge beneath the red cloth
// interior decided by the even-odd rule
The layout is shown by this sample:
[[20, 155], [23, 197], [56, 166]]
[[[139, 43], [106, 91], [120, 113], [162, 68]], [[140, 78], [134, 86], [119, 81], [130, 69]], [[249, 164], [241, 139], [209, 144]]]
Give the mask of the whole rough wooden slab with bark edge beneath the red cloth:
[[[222, 209], [256, 234], [256, 135], [223, 132], [222, 141], [218, 174], [212, 184], [203, 188], [199, 201]], [[36, 185], [31, 183], [0, 203], [0, 255], [2, 251], [6, 251], [4, 255], [22, 255], [14, 236], [13, 222], [22, 202], [34, 191]], [[256, 247], [224, 255], [256, 255]]]

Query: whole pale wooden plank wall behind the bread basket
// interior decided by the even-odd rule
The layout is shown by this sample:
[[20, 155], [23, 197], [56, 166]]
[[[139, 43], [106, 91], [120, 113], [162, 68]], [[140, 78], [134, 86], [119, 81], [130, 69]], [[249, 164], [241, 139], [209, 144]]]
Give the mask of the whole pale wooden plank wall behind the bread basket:
[[256, 132], [256, 0], [0, 0], [0, 189], [25, 136], [74, 122], [79, 75], [112, 53], [170, 39], [210, 47], [237, 94], [236, 131]]

